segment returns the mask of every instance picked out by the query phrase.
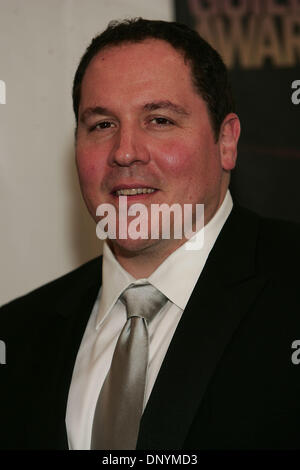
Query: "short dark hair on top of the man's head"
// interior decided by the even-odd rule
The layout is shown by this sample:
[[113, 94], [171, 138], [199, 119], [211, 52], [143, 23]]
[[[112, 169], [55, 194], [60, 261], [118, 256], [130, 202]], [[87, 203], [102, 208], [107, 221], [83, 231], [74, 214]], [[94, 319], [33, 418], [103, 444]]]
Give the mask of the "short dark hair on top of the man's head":
[[82, 56], [73, 82], [73, 109], [78, 123], [81, 83], [86, 69], [102, 49], [122, 43], [137, 43], [154, 38], [168, 42], [180, 51], [191, 67], [196, 90], [207, 103], [211, 124], [218, 140], [225, 116], [234, 111], [227, 69], [218, 52], [188, 26], [158, 20], [132, 18], [111, 21], [103, 33], [94, 37]]

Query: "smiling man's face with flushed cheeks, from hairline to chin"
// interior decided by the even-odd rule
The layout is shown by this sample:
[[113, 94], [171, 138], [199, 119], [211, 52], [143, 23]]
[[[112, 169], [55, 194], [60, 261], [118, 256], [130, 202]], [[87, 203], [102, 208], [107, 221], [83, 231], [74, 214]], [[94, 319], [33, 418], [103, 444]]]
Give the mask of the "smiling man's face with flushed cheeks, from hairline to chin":
[[[207, 222], [219, 207], [228, 185], [220, 140], [189, 65], [167, 42], [149, 39], [96, 55], [84, 75], [78, 118], [77, 167], [95, 220], [102, 203], [118, 209], [122, 188], [155, 189], [127, 197], [128, 206], [143, 203], [149, 213], [151, 204], [203, 203]], [[166, 240], [113, 243], [138, 251]]]

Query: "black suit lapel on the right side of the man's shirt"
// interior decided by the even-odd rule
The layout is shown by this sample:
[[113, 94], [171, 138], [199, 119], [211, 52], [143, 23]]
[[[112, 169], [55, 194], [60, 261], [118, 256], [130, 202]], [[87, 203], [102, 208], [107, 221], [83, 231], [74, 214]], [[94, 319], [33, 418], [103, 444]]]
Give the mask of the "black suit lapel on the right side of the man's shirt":
[[138, 449], [181, 449], [214, 371], [265, 279], [258, 220], [234, 209], [178, 324], [141, 422]]

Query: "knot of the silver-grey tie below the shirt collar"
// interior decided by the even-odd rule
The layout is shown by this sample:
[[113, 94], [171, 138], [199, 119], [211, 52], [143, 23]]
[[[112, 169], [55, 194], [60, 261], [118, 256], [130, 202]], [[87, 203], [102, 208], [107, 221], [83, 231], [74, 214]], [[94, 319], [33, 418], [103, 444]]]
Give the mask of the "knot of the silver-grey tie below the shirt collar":
[[149, 323], [168, 299], [151, 284], [135, 284], [123, 292], [120, 300], [126, 306], [127, 318], [143, 317]]

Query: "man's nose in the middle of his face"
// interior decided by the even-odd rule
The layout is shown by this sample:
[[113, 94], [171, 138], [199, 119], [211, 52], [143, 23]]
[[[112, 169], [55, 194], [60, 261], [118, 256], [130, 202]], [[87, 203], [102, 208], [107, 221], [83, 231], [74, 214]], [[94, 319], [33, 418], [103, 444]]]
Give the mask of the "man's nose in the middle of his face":
[[111, 152], [111, 164], [131, 166], [148, 161], [145, 136], [141, 135], [141, 130], [132, 124], [120, 126]]

